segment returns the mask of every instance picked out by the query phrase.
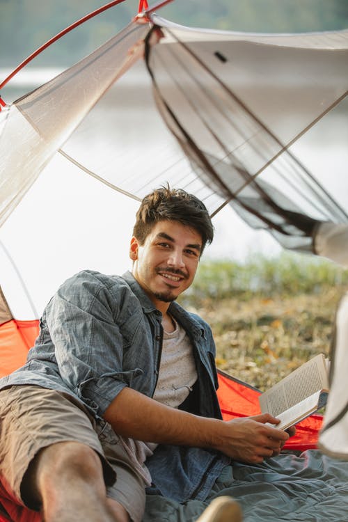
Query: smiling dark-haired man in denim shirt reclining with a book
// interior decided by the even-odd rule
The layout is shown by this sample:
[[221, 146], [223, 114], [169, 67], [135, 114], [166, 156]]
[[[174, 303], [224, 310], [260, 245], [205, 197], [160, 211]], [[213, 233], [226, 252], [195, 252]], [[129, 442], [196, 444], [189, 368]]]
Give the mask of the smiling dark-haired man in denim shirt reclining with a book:
[[[204, 500], [231, 458], [280, 452], [288, 434], [267, 425], [275, 418], [221, 420], [211, 331], [175, 303], [212, 239], [195, 196], [146, 196], [132, 274], [63, 283], [26, 365], [1, 379], [2, 484], [46, 522], [140, 522], [146, 487]], [[240, 514], [223, 498], [202, 517]]]

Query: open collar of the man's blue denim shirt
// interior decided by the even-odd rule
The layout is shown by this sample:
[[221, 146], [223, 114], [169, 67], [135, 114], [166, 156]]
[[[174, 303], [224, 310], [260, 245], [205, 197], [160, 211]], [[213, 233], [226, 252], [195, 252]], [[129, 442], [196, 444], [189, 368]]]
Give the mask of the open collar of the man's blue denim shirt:
[[[152, 303], [151, 299], [145, 294], [141, 285], [139, 285], [136, 278], [134, 278], [131, 271], [127, 270], [125, 274], [122, 275], [122, 278], [126, 281], [126, 283], [131, 288], [132, 292], [136, 295], [141, 303], [141, 306], [145, 313], [151, 313], [157, 310], [154, 303]], [[191, 338], [193, 340], [198, 341], [201, 337], [205, 336], [205, 331], [202, 326], [193, 319], [192, 315], [189, 315], [182, 306], [175, 303], [173, 301], [168, 308], [168, 311], [171, 315], [173, 315], [174, 319], [181, 324], [181, 326], [189, 332]]]

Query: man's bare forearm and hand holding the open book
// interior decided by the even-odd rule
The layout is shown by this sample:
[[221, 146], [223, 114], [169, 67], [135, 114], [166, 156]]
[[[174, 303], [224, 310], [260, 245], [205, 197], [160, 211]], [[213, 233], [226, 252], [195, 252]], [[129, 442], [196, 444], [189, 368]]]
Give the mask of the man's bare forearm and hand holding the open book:
[[141, 441], [212, 448], [239, 461], [258, 463], [279, 453], [289, 435], [265, 425], [278, 421], [268, 413], [225, 422], [173, 409], [124, 388], [104, 419], [122, 436]]

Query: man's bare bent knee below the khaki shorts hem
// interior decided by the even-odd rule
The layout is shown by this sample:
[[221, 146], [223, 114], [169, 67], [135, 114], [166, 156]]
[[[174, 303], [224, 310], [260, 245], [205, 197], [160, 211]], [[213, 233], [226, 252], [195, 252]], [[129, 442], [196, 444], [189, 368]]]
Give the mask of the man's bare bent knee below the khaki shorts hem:
[[129, 522], [122, 505], [106, 499], [100, 457], [82, 443], [40, 450], [24, 475], [22, 495], [42, 504], [45, 522]]

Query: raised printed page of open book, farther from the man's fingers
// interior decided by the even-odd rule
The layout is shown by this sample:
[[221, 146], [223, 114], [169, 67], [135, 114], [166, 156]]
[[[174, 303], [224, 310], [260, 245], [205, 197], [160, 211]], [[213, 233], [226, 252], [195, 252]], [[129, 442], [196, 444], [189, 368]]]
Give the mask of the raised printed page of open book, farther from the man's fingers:
[[329, 379], [325, 356], [319, 354], [294, 370], [259, 397], [262, 413], [279, 417], [281, 413], [313, 393], [328, 390]]

